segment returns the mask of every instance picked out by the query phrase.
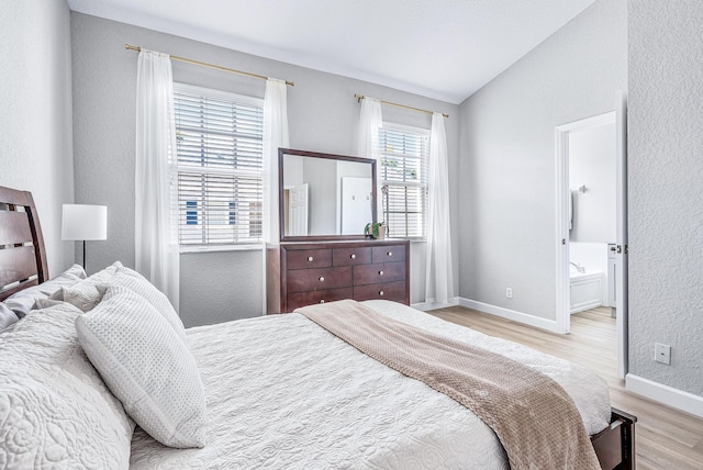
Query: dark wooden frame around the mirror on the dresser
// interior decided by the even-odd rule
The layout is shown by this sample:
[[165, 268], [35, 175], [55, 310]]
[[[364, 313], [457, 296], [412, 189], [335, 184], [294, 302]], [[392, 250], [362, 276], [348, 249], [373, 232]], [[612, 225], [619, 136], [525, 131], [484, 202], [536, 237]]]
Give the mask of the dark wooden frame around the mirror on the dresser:
[[[371, 198], [376, 201], [376, 189], [377, 189], [377, 180], [376, 180], [376, 160], [372, 158], [361, 158], [361, 157], [352, 157], [347, 155], [335, 155], [335, 154], [322, 154], [320, 152], [310, 152], [310, 150], [297, 150], [293, 148], [279, 148], [278, 149], [278, 228], [279, 228], [279, 237], [281, 242], [325, 242], [325, 240], [347, 240], [347, 239], [366, 239], [366, 235], [306, 235], [306, 236], [287, 236], [284, 235], [284, 210], [283, 206], [283, 156], [284, 155], [295, 155], [299, 157], [313, 157], [313, 158], [327, 158], [334, 160], [344, 160], [344, 161], [356, 161], [359, 164], [368, 164], [371, 166]], [[376, 203], [371, 204], [371, 222], [377, 221], [377, 205]]]

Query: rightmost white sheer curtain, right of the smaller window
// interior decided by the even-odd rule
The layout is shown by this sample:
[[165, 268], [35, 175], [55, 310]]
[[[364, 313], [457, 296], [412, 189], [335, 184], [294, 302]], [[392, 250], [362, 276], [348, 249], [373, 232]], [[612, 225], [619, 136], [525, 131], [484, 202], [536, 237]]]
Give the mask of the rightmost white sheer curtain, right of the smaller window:
[[454, 301], [451, 232], [449, 224], [449, 170], [444, 116], [432, 115], [427, 178], [427, 276], [425, 302], [447, 304]]

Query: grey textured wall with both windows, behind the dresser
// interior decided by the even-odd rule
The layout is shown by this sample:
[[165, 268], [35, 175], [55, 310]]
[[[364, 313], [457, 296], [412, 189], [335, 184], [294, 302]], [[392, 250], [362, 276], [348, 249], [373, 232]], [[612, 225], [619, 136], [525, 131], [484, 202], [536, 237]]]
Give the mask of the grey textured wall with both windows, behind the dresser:
[[[447, 112], [451, 114], [446, 121], [449, 165], [454, 169], [450, 170], [450, 188], [453, 201], [458, 201], [457, 105], [74, 12], [76, 200], [109, 206], [109, 240], [100, 254], [88, 253], [89, 265], [90, 259], [96, 259], [94, 269], [115, 259], [125, 265], [134, 264], [136, 53], [125, 51], [125, 43], [294, 81], [295, 87], [288, 89], [293, 148], [355, 155], [360, 108], [354, 99], [355, 92]], [[242, 94], [264, 96], [264, 82], [260, 80], [182, 63], [174, 63], [174, 79]], [[429, 128], [431, 119], [426, 114], [388, 107], [383, 114], [391, 122]], [[457, 220], [458, 202], [451, 211]], [[453, 235], [456, 239], [456, 228]], [[411, 253], [411, 298], [413, 302], [422, 302], [424, 246], [413, 247]], [[223, 307], [239, 309], [249, 315], [261, 312], [260, 251], [189, 254], [183, 255], [181, 261], [181, 315], [185, 318], [198, 317], [198, 322], [212, 323], [223, 317]], [[211, 280], [207, 286], [203, 286], [204, 278]], [[258, 286], [253, 286], [252, 279]], [[220, 292], [230, 292], [226, 299], [236, 301], [224, 302], [226, 305], [223, 305], [215, 299], [215, 293]]]

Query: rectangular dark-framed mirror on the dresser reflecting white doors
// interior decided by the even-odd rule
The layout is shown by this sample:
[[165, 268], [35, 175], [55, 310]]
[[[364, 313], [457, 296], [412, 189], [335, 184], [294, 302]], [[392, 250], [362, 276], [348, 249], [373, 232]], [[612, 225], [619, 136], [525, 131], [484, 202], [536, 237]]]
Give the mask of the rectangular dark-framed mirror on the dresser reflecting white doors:
[[376, 160], [279, 148], [282, 242], [364, 238], [376, 222]]

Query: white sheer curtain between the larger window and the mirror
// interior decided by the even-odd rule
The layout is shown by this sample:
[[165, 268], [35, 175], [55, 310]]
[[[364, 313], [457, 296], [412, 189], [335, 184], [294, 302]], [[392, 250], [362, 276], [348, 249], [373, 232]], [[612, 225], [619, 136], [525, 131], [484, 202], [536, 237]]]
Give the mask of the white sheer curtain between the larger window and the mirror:
[[288, 137], [288, 98], [286, 82], [266, 80], [264, 97], [264, 242], [277, 244], [278, 220], [278, 148], [290, 146]]

